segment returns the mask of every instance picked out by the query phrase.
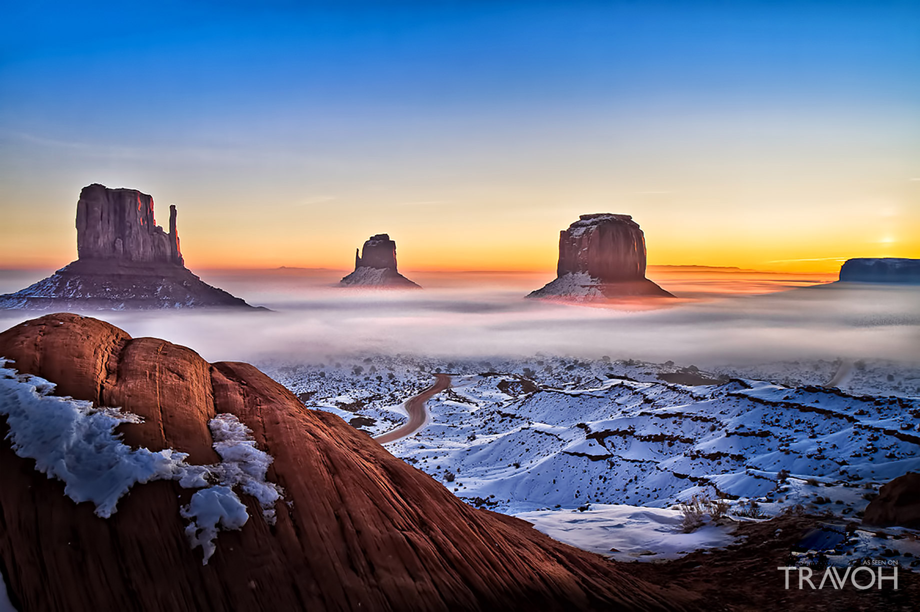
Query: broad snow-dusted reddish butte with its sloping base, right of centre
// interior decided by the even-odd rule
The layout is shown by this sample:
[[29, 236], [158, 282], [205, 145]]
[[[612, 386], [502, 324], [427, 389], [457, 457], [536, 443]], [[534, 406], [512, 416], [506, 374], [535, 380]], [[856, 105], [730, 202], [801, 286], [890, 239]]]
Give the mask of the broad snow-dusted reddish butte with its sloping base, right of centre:
[[528, 298], [576, 301], [674, 296], [645, 278], [645, 235], [629, 215], [581, 215], [559, 232], [557, 278]]

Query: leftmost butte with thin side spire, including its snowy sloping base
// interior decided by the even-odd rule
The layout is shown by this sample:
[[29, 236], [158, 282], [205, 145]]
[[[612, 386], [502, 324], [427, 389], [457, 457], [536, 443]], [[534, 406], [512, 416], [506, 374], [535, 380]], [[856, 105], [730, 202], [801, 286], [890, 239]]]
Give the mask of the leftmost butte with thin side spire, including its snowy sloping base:
[[0, 308], [29, 310], [153, 310], [252, 308], [185, 267], [176, 207], [169, 232], [156, 225], [154, 198], [136, 189], [84, 187], [76, 203], [77, 259], [16, 293]]

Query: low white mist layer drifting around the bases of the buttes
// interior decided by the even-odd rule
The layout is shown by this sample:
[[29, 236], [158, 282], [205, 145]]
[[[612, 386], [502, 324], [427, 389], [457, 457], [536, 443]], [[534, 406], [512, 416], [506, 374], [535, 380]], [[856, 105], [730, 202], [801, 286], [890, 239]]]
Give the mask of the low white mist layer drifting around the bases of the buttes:
[[[87, 314], [135, 337], [190, 346], [211, 361], [538, 352], [671, 359], [700, 367], [837, 357], [920, 361], [918, 287], [835, 283], [802, 288], [814, 279], [688, 273], [669, 280], [650, 274], [665, 289], [690, 298], [610, 308], [523, 299], [551, 279], [546, 274], [406, 274], [426, 289], [339, 289], [332, 286], [342, 276], [336, 270], [213, 271], [202, 279], [273, 312]], [[0, 312], [0, 326], [6, 329], [40, 314]]]

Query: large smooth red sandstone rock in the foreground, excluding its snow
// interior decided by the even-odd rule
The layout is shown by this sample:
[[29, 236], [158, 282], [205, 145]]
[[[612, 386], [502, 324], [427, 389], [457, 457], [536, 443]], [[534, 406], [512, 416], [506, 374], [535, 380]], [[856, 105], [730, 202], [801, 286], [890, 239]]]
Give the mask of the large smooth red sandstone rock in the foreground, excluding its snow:
[[699, 599], [627, 575], [510, 516], [456, 499], [338, 416], [305, 408], [245, 363], [50, 314], [0, 334], [7, 367], [55, 392], [121, 406], [133, 448], [218, 459], [209, 419], [231, 413], [274, 458], [277, 523], [221, 532], [207, 565], [190, 548], [175, 481], [136, 484], [108, 519], [21, 459], [0, 416], [0, 561], [11, 601], [33, 610], [680, 610]]

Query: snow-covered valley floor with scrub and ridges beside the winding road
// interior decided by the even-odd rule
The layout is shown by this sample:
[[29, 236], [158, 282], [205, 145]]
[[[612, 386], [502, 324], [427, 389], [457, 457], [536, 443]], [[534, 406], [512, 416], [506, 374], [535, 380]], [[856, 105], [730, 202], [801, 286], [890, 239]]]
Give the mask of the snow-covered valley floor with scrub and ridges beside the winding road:
[[[538, 356], [263, 363], [308, 407], [372, 436], [447, 372], [430, 422], [386, 445], [469, 504], [621, 561], [734, 541], [739, 521], [805, 511], [844, 538], [836, 561], [920, 565], [905, 529], [858, 527], [881, 484], [920, 471], [920, 368], [869, 360], [714, 367]], [[822, 385], [834, 380], [839, 387]], [[721, 501], [684, 533], [682, 502]], [[850, 523], [850, 527], [845, 527]], [[838, 554], [837, 554], [838, 553]]]

